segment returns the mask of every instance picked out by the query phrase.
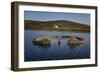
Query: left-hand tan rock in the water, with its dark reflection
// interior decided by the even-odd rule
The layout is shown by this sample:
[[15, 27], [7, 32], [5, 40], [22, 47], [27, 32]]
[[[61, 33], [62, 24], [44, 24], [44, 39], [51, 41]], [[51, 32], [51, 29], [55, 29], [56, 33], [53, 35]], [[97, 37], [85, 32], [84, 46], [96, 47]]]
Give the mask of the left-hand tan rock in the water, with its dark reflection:
[[43, 37], [38, 37], [36, 39], [33, 39], [33, 44], [42, 46], [42, 47], [50, 47], [51, 46], [51, 41], [49, 37], [43, 36]]

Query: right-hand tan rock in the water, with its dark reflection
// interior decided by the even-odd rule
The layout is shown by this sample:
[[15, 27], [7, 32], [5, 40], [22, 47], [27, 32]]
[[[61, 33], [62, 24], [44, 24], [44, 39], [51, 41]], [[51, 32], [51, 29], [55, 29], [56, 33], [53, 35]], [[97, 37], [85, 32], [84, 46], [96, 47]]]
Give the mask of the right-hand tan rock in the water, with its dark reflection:
[[72, 36], [68, 40], [68, 46], [70, 48], [75, 48], [77, 46], [80, 46], [81, 44], [84, 44], [84, 39], [82, 39], [80, 37]]

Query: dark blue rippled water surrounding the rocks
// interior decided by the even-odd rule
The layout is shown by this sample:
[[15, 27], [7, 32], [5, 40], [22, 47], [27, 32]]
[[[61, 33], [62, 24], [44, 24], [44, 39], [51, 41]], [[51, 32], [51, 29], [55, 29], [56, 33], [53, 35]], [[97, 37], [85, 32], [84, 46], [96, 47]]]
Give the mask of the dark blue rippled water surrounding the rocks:
[[[62, 38], [60, 45], [57, 35], [78, 36], [85, 39], [85, 43], [75, 47], [68, 46], [69, 38]], [[49, 35], [52, 37], [50, 47], [34, 45], [32, 40], [36, 37]], [[75, 32], [48, 32], [25, 30], [24, 32], [24, 61], [67, 60], [90, 58], [90, 34]]]

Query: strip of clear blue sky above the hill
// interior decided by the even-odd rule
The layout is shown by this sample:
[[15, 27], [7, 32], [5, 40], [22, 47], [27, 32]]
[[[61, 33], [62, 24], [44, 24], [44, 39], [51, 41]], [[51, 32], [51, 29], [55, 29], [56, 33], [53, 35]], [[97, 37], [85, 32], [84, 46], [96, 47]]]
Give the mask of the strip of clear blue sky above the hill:
[[37, 21], [69, 20], [90, 25], [90, 14], [24, 11], [24, 20], [37, 20]]

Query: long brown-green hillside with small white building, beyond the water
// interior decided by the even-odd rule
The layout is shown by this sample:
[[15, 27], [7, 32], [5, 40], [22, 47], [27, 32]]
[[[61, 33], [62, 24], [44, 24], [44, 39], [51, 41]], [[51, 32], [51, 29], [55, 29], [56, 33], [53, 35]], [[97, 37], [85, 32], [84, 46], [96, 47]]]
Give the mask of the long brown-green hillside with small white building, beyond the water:
[[72, 21], [67, 21], [67, 20], [55, 20], [55, 21], [25, 20], [25, 29], [89, 32], [90, 26], [83, 23], [77, 23], [77, 22], [72, 22]]

